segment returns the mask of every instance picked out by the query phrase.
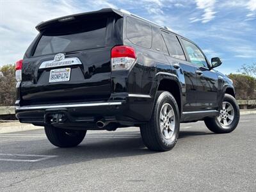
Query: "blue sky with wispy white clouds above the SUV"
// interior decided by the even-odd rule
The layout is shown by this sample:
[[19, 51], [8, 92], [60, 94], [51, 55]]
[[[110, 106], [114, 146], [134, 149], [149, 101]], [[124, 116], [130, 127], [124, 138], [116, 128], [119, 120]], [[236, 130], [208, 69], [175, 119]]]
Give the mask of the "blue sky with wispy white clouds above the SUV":
[[198, 44], [211, 60], [219, 56], [225, 74], [256, 62], [256, 0], [0, 0], [0, 66], [22, 58], [42, 20], [122, 8]]

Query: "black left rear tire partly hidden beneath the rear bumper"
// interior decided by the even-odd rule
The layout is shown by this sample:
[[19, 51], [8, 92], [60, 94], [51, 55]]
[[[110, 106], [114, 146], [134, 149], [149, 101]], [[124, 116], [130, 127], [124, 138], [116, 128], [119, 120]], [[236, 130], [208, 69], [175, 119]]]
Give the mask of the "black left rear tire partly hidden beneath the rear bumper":
[[45, 125], [44, 130], [48, 140], [56, 147], [76, 147], [86, 135], [86, 131], [61, 129], [52, 125]]

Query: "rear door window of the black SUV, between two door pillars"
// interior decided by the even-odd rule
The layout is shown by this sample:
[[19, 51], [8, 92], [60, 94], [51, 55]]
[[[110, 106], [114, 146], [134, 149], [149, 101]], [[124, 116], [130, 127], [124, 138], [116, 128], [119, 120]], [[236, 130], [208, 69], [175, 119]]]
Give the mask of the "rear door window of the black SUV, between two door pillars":
[[170, 56], [172, 56], [173, 58], [177, 58], [179, 60], [186, 61], [184, 52], [181, 48], [179, 40], [177, 39], [177, 36], [172, 35], [170, 33], [166, 33], [164, 31], [162, 34]]

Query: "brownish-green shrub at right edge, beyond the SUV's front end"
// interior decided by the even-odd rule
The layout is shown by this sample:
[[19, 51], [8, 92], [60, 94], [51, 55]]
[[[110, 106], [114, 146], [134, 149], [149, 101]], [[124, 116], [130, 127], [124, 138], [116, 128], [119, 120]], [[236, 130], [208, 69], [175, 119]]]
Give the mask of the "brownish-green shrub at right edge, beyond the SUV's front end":
[[236, 99], [256, 99], [256, 78], [244, 74], [228, 75], [234, 82]]

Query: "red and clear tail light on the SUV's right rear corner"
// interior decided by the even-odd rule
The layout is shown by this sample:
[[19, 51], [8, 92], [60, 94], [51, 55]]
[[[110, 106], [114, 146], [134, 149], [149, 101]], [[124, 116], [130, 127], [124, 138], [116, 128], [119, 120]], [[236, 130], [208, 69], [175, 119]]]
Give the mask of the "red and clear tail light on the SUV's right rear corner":
[[129, 70], [136, 61], [136, 52], [132, 47], [120, 45], [111, 50], [111, 68], [115, 70]]

